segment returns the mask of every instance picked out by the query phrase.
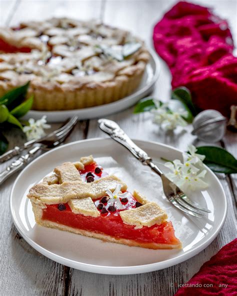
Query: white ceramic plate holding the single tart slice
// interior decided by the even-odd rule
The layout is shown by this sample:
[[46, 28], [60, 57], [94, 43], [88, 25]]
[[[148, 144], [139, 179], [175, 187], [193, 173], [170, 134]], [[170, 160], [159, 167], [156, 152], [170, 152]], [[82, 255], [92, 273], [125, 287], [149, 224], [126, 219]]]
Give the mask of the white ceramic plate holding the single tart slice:
[[[160, 156], [181, 159], [181, 152], [170, 146], [135, 141], [155, 162]], [[156, 200], [172, 221], [182, 249], [152, 250], [103, 242], [95, 238], [46, 228], [35, 224], [28, 189], [64, 161], [76, 161], [93, 154], [108, 173], [125, 180], [128, 189], [139, 190]], [[160, 168], [165, 170], [162, 164]], [[142, 165], [124, 147], [111, 139], [89, 139], [72, 142], [49, 151], [32, 161], [17, 177], [10, 195], [13, 222], [23, 238], [37, 251], [61, 264], [90, 272], [130, 274], [162, 269], [182, 262], [204, 249], [217, 235], [226, 216], [226, 197], [217, 177], [208, 169], [209, 187], [190, 198], [207, 206], [211, 213], [195, 218], [173, 207], [162, 193], [159, 177]]]

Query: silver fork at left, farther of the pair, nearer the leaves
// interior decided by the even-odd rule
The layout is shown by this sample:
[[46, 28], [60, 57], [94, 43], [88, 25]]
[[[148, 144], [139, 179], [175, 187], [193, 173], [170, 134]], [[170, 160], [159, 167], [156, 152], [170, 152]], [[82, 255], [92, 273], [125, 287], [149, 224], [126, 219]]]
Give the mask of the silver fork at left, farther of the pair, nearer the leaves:
[[27, 148], [30, 148], [33, 144], [35, 144], [37, 142], [48, 139], [48, 138], [50, 138], [52, 136], [59, 136], [61, 132], [65, 131], [65, 128], [70, 128], [70, 126], [72, 124], [74, 124], [74, 122], [76, 122], [76, 121], [77, 121], [77, 116], [73, 116], [69, 120], [66, 120], [64, 122], [64, 124], [60, 128], [46, 134], [45, 136], [41, 137], [40, 139], [27, 141], [20, 147], [15, 146], [13, 149], [11, 149], [11, 150], [3, 153], [2, 155], [0, 155], [0, 163], [4, 162], [6, 160], [9, 160], [10, 158], [12, 158], [15, 155], [20, 154], [21, 151], [23, 151], [23, 150], [25, 150]]

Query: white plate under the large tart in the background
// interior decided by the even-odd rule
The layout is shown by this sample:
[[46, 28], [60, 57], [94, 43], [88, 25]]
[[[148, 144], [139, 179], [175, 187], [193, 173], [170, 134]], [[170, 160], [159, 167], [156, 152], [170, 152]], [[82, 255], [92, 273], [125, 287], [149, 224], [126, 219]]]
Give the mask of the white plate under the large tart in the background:
[[159, 64], [157, 54], [152, 49], [149, 49], [149, 52], [151, 57], [145, 67], [145, 71], [144, 71], [144, 75], [142, 77], [141, 83], [130, 95], [109, 104], [104, 104], [101, 106], [95, 106], [90, 108], [65, 110], [65, 111], [30, 110], [22, 119], [28, 119], [30, 117], [33, 117], [34, 119], [39, 119], [43, 115], [47, 116], [47, 121], [49, 122], [63, 121], [73, 115], [77, 115], [78, 118], [81, 120], [91, 119], [91, 118], [106, 116], [111, 113], [116, 113], [132, 106], [140, 98], [144, 97], [151, 91], [160, 72], [160, 64]]

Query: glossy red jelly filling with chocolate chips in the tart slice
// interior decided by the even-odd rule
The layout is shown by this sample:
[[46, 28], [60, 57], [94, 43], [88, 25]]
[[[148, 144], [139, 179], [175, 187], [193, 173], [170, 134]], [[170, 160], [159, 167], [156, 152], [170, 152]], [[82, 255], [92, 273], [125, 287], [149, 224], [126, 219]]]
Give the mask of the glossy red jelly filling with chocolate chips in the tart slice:
[[[82, 180], [87, 182], [107, 175], [102, 167], [95, 162], [86, 165], [84, 170], [79, 172]], [[171, 222], [165, 221], [160, 225], [154, 224], [150, 227], [143, 226], [136, 229], [134, 225], [125, 224], [122, 221], [119, 215], [120, 211], [142, 205], [130, 192], [126, 194], [126, 197], [120, 198], [122, 209], [108, 204], [108, 198], [108, 196], [104, 195], [93, 200], [95, 206], [100, 211], [98, 217], [73, 213], [68, 203], [59, 203], [46, 204], [46, 207], [43, 209], [42, 219], [81, 230], [111, 235], [115, 238], [133, 239], [138, 242], [177, 243], [178, 240], [174, 235]]]

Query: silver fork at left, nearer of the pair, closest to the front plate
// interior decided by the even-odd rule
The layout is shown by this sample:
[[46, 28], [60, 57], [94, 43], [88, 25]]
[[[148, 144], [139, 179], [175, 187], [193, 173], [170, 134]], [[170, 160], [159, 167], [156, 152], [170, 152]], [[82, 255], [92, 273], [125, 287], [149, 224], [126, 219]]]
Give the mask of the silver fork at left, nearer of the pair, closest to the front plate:
[[31, 148], [26, 154], [21, 155], [11, 162], [5, 170], [0, 172], [0, 184], [2, 184], [9, 176], [21, 169], [25, 164], [29, 163], [37, 151], [49, 150], [59, 146], [71, 133], [76, 122], [77, 116], [74, 116], [66, 124], [59, 128], [56, 133], [49, 134], [50, 136], [46, 136], [44, 139], [37, 142], [35, 146]]

